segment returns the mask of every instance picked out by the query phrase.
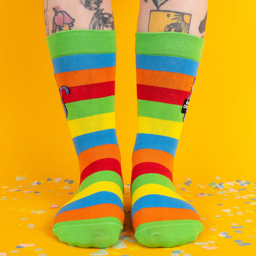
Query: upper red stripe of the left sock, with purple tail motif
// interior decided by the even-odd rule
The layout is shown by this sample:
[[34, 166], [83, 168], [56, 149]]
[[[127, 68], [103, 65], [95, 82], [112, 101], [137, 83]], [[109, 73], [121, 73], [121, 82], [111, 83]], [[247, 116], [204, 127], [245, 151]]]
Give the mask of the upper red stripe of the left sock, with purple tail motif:
[[69, 87], [70, 93], [62, 90], [64, 103], [76, 102], [84, 99], [96, 99], [115, 95], [115, 81], [108, 81], [98, 84], [86, 84]]

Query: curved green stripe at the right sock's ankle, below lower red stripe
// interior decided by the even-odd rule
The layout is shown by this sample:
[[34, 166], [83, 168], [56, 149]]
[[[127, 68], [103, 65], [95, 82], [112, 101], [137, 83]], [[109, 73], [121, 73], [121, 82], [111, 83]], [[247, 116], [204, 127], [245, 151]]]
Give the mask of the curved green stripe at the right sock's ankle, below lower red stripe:
[[145, 184], [159, 184], [161, 186], [166, 186], [169, 189], [172, 189], [177, 193], [175, 186], [172, 184], [172, 181], [169, 180], [166, 176], [160, 175], [158, 173], [145, 173], [138, 176], [132, 183], [131, 186], [131, 196], [133, 196], [136, 189]]

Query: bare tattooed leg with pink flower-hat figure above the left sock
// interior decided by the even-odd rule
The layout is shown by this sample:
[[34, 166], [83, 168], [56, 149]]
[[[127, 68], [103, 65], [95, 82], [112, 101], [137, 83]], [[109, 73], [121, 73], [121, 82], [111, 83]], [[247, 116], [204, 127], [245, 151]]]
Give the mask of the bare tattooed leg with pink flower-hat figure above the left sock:
[[114, 30], [111, 0], [44, 0], [47, 36], [71, 29]]

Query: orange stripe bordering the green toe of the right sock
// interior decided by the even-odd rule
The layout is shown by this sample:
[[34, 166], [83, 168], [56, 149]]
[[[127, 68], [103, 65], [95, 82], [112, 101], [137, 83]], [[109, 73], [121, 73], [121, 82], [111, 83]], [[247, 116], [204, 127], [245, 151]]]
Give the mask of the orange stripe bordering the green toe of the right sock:
[[140, 224], [147, 222], [185, 219], [201, 221], [200, 216], [191, 209], [148, 207], [134, 213], [132, 226], [136, 230]]

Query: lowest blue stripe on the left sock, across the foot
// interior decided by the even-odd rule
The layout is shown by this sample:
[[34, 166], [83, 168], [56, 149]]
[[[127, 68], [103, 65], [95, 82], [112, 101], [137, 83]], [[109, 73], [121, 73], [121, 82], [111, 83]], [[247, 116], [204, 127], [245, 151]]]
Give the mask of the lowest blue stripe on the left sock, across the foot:
[[109, 191], [100, 191], [65, 205], [58, 211], [56, 216], [61, 212], [76, 210], [97, 204], [115, 204], [123, 210], [123, 204], [118, 195]]

